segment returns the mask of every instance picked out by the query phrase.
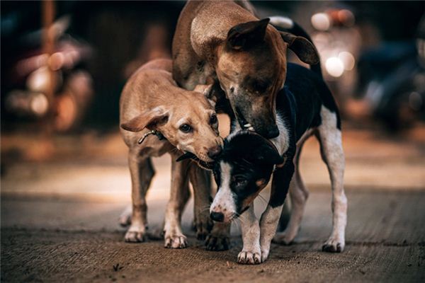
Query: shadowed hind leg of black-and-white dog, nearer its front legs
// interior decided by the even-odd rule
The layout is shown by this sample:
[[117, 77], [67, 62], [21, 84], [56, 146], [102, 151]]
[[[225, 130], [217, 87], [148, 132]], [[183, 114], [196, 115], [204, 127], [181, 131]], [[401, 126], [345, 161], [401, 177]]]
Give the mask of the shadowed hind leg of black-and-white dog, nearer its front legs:
[[295, 154], [295, 178], [292, 179], [289, 187], [291, 203], [290, 220], [285, 231], [283, 231], [283, 233], [277, 233], [273, 238], [274, 242], [284, 245], [289, 245], [294, 240], [295, 236], [297, 236], [298, 231], [300, 231], [301, 219], [308, 197], [307, 187], [305, 187], [300, 174], [299, 164], [301, 149], [302, 144], [298, 146], [297, 153]]

